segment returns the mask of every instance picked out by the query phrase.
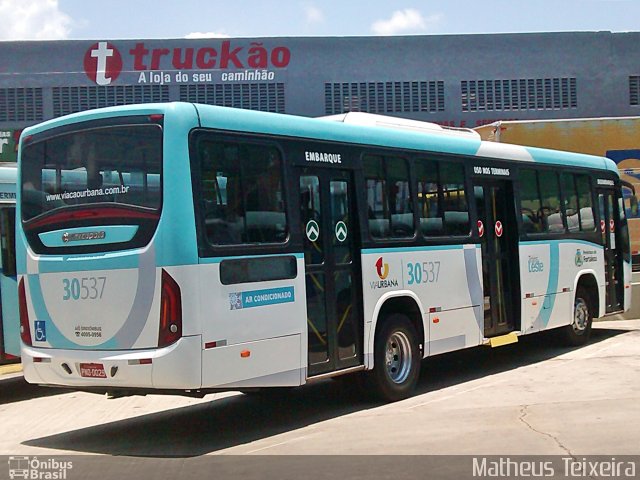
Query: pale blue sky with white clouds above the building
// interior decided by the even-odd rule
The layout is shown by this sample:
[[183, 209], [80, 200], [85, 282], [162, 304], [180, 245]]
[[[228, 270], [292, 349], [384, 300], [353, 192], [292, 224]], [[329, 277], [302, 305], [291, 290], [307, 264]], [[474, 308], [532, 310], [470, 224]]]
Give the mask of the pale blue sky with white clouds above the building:
[[0, 40], [640, 30], [640, 0], [0, 0]]

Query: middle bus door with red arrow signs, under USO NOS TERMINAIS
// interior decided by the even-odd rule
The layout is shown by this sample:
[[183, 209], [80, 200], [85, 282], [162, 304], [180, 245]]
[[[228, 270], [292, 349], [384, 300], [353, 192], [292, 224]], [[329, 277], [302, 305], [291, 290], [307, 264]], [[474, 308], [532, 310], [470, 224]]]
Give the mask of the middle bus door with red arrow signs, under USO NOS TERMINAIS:
[[513, 183], [474, 180], [482, 247], [484, 336], [494, 337], [519, 327], [518, 228]]

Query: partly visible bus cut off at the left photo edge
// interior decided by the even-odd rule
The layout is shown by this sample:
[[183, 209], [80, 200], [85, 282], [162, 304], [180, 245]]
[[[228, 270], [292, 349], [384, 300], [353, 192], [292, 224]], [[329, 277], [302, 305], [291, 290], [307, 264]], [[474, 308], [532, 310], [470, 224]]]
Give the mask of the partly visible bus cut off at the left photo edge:
[[16, 163], [0, 163], [0, 363], [20, 355], [16, 281]]

